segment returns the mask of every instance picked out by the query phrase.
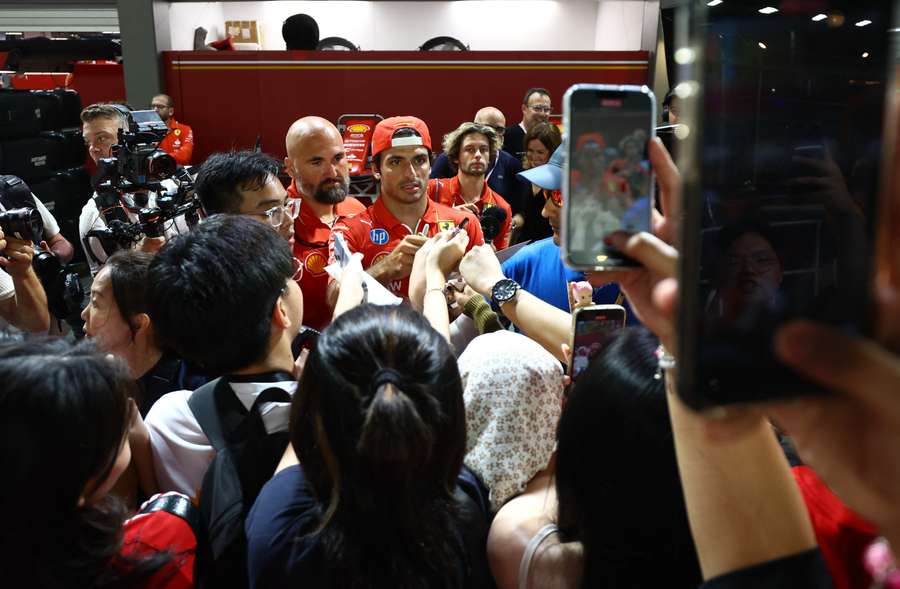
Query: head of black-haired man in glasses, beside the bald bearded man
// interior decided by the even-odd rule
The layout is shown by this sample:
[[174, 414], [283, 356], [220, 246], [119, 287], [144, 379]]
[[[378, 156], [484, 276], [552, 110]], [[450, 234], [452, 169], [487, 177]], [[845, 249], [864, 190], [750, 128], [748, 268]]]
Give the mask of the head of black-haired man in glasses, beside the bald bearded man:
[[200, 166], [194, 190], [207, 215], [253, 217], [293, 245], [300, 202], [278, 179], [280, 169], [278, 160], [258, 151], [214, 153]]

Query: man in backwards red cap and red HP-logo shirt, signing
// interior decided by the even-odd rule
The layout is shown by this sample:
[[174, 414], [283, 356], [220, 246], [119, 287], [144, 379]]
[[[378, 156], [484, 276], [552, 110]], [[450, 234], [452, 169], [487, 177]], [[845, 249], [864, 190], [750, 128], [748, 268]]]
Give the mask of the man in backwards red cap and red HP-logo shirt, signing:
[[[484, 243], [481, 225], [472, 213], [436, 203], [426, 196], [431, 172], [431, 135], [416, 117], [392, 117], [378, 123], [372, 135], [375, 178], [381, 192], [365, 212], [341, 219], [332, 228], [344, 237], [351, 252], [363, 255], [363, 268], [390, 291], [406, 298], [416, 252], [440, 231], [466, 221], [469, 248]], [[329, 301], [337, 298], [337, 283], [329, 288]]]

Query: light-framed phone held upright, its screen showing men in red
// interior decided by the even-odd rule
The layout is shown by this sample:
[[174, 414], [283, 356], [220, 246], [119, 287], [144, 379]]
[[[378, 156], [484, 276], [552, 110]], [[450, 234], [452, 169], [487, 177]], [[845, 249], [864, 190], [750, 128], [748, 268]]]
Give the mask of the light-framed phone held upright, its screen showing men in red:
[[653, 178], [647, 142], [655, 99], [647, 88], [580, 84], [566, 93], [563, 184], [566, 262], [591, 269], [634, 265], [604, 239], [650, 230]]

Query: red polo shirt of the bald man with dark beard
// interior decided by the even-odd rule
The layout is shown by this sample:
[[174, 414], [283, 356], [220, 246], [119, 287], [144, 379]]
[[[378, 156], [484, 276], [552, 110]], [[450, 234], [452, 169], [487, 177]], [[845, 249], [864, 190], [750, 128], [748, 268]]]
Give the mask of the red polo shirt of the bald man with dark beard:
[[[300, 198], [296, 181], [288, 186], [290, 198]], [[348, 196], [334, 207], [337, 215], [335, 225], [344, 217], [352, 217], [366, 210], [366, 207]], [[331, 227], [316, 216], [311, 207], [300, 205], [300, 214], [294, 221], [294, 257], [300, 260], [297, 284], [303, 291], [303, 325], [313, 329], [323, 329], [331, 323], [331, 308], [325, 302], [328, 288], [328, 238]]]

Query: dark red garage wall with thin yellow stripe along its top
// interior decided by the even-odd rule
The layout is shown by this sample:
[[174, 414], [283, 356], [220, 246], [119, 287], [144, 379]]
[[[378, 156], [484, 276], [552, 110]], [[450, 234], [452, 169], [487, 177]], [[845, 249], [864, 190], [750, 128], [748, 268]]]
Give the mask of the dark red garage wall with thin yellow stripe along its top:
[[216, 151], [285, 155], [290, 124], [305, 115], [415, 115], [441, 137], [479, 108], [521, 120], [522, 95], [547, 88], [554, 112], [574, 83], [647, 84], [648, 52], [628, 51], [228, 51], [163, 52], [175, 118], [194, 130], [194, 163]]

